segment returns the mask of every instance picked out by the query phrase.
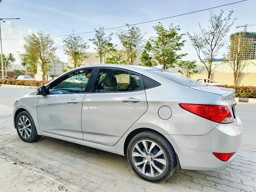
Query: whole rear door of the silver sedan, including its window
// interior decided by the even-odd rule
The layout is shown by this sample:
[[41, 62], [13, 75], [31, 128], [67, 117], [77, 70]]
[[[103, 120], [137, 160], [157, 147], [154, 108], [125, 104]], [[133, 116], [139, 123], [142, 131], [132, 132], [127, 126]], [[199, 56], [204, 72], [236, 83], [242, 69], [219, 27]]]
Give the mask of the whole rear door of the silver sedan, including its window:
[[147, 110], [141, 75], [119, 68], [98, 68], [82, 107], [84, 140], [114, 145]]

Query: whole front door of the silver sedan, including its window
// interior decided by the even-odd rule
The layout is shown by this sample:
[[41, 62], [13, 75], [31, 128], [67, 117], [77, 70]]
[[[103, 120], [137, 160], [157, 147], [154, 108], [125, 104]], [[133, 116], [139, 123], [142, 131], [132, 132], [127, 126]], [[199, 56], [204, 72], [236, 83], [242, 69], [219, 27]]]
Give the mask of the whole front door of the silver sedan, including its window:
[[[42, 132], [83, 139], [82, 101], [91, 73], [92, 69], [71, 72], [52, 82], [47, 87], [48, 94], [38, 97], [36, 108]], [[86, 81], [77, 81], [76, 77], [83, 77]]]

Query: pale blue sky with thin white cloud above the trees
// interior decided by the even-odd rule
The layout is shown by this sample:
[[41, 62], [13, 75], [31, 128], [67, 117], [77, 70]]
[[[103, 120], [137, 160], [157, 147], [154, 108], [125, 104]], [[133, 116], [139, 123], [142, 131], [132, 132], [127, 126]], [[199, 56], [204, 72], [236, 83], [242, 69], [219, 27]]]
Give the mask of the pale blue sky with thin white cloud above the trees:
[[[20, 64], [19, 53], [24, 51], [24, 40], [6, 39], [22, 39], [24, 36], [37, 31], [58, 36], [70, 34], [72, 29], [77, 33], [81, 33], [92, 31], [100, 26], [112, 28], [174, 16], [235, 1], [238, 0], [3, 0], [0, 3], [0, 17], [20, 18], [20, 20], [5, 20], [5, 23], [1, 22], [3, 53], [7, 55], [11, 52], [16, 58], [14, 64]], [[248, 0], [214, 9], [216, 14], [221, 9], [226, 10], [226, 14], [230, 10], [234, 10], [232, 17], [237, 18], [226, 37], [227, 44], [230, 34], [244, 30], [244, 28], [237, 29], [236, 26], [256, 23], [255, 5], [256, 0]], [[169, 18], [161, 22], [164, 27], [168, 27], [171, 23], [174, 26], [180, 26], [180, 33], [193, 33], [199, 32], [198, 23], [202, 26], [207, 26], [209, 16], [210, 12], [208, 10]], [[155, 35], [152, 26], [157, 24], [158, 22], [150, 22], [138, 25], [142, 32], [146, 32], [144, 36], [146, 40]], [[256, 32], [256, 26], [248, 26], [247, 31]], [[116, 33], [117, 30], [108, 30], [106, 35], [111, 32]], [[93, 33], [82, 35], [85, 41], [88, 41], [93, 36]], [[182, 53], [188, 53], [188, 56], [184, 57], [183, 60], [198, 61], [188, 36], [185, 35], [183, 39], [186, 42], [182, 48]], [[57, 47], [56, 55], [62, 62], [68, 62], [68, 56], [62, 50], [62, 37], [54, 38], [54, 42]], [[112, 37], [112, 42], [120, 45], [115, 34]], [[88, 45], [90, 45], [88, 52], [94, 52], [94, 45], [91, 42], [88, 42]], [[220, 50], [217, 58], [222, 58], [226, 50], [227, 47]]]

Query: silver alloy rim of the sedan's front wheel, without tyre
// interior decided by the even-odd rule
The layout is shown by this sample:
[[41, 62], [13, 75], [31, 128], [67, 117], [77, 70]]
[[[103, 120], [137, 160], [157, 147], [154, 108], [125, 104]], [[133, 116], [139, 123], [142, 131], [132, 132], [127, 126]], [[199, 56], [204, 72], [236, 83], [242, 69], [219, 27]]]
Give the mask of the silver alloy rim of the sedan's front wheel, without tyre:
[[32, 127], [30, 120], [26, 116], [20, 116], [18, 120], [18, 130], [24, 139], [28, 139], [30, 137]]

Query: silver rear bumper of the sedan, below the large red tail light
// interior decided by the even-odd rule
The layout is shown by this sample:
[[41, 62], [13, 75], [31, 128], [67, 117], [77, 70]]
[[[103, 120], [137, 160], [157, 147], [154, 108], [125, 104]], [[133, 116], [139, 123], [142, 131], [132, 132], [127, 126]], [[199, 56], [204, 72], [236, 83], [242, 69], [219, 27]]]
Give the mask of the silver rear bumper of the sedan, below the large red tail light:
[[218, 124], [207, 134], [165, 135], [178, 155], [182, 169], [219, 170], [223, 169], [236, 157], [234, 154], [227, 162], [216, 158], [212, 152], [237, 152], [242, 142], [243, 127], [239, 118], [237, 125]]

